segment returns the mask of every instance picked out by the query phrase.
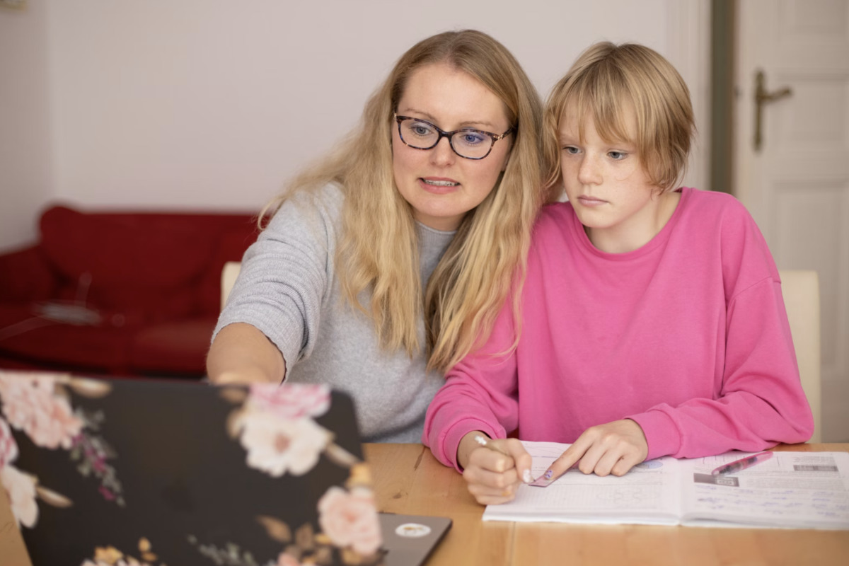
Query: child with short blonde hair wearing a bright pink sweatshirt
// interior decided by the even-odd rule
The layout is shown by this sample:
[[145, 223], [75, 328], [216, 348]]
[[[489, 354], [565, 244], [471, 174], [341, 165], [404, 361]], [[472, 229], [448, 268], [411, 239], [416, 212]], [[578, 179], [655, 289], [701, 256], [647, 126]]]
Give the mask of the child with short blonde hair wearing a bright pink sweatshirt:
[[483, 450], [477, 434], [572, 443], [548, 479], [809, 439], [767, 244], [733, 197], [676, 188], [694, 132], [678, 72], [640, 45], [593, 45], [554, 87], [544, 128], [569, 202], [534, 228], [521, 328], [505, 306], [431, 403], [434, 455], [490, 504], [531, 480], [531, 457], [515, 439]]

